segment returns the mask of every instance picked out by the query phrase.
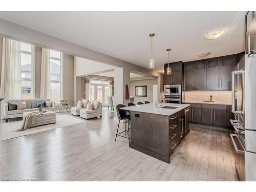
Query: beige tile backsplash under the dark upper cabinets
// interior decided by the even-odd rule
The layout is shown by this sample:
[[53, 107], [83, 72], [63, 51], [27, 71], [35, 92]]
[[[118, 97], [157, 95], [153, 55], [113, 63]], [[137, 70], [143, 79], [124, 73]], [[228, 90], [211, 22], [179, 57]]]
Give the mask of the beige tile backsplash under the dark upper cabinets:
[[231, 91], [184, 91], [183, 101], [203, 101], [212, 95], [215, 102], [231, 103]]

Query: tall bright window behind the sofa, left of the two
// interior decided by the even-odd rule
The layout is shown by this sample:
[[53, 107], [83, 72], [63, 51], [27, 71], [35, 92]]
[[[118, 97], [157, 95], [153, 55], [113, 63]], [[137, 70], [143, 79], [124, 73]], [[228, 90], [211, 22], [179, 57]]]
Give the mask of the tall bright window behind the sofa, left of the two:
[[22, 99], [33, 98], [34, 46], [20, 42]]

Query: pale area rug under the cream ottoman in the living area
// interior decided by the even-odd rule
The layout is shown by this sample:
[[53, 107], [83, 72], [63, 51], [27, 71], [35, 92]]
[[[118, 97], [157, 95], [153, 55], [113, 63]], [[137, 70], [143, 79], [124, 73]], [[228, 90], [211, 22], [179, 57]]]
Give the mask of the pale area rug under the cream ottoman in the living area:
[[55, 124], [36, 126], [31, 129], [22, 131], [22, 132], [15, 132], [22, 125], [22, 121], [11, 121], [8, 123], [1, 123], [0, 141], [15, 138], [15, 137], [21, 137], [24, 135], [30, 135], [30, 134], [34, 134], [34, 133], [38, 133], [38, 132], [53, 130], [53, 129], [56, 129], [59, 127], [82, 123], [82, 122], [84, 122], [84, 121], [81, 119], [72, 117], [71, 115], [56, 114], [56, 123]]

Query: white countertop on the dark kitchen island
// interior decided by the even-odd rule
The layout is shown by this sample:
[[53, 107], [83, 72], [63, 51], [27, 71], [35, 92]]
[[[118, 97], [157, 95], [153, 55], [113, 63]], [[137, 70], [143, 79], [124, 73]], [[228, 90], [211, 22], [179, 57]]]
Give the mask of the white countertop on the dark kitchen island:
[[156, 108], [155, 103], [148, 103], [148, 104], [140, 104], [140, 105], [134, 105], [134, 106], [126, 106], [125, 108], [121, 108], [121, 109], [169, 116], [187, 108], [188, 106], [190, 106], [190, 104], [164, 103], [164, 106], [174, 106], [177, 108], [176, 109], [168, 109], [168, 108], [160, 108], [160, 107]]

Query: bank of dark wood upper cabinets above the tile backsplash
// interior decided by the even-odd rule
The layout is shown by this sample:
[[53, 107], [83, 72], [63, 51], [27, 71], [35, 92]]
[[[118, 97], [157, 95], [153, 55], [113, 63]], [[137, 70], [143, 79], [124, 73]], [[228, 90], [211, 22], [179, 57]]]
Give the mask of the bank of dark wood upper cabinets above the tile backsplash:
[[171, 75], [164, 67], [164, 84], [182, 84], [184, 91], [231, 90], [231, 72], [244, 52], [189, 62], [170, 63]]

